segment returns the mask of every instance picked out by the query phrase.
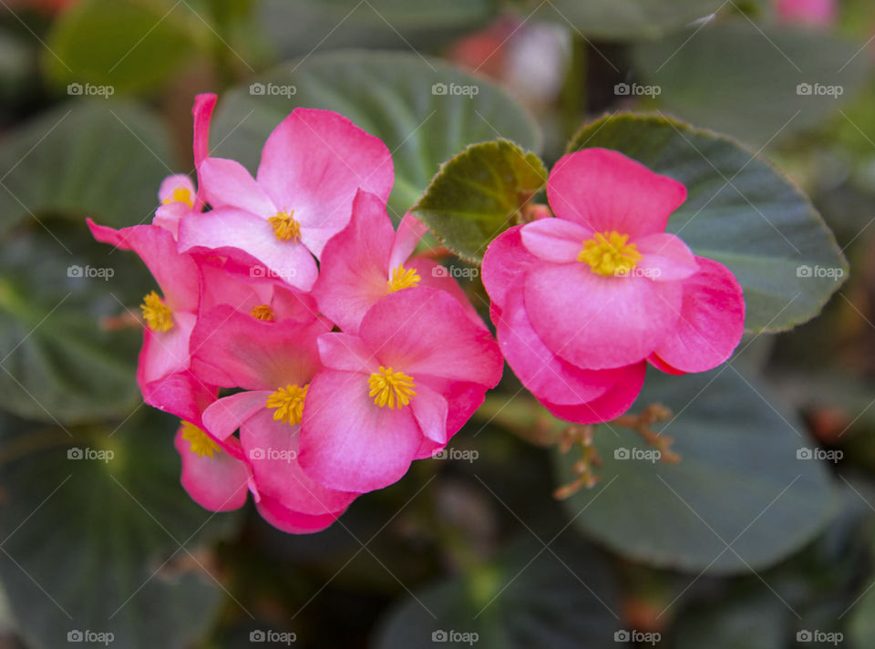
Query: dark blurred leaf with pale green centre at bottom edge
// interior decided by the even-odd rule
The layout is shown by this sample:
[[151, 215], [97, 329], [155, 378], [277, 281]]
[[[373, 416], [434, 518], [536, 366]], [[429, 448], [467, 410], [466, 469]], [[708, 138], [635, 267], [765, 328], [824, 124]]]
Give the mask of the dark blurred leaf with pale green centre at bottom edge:
[[416, 597], [383, 621], [376, 649], [426, 649], [438, 642], [480, 649], [612, 649], [613, 634], [622, 628], [616, 586], [598, 551], [561, 541], [549, 549], [531, 540], [516, 543], [495, 562]]

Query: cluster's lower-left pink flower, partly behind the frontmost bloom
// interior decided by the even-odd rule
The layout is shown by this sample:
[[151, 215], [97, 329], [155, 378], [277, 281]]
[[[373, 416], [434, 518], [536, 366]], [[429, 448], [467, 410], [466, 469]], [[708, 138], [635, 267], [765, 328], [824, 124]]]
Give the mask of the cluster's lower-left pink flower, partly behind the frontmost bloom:
[[316, 338], [330, 329], [321, 318], [263, 322], [222, 305], [202, 314], [191, 335], [195, 374], [243, 388], [207, 407], [203, 428], [225, 443], [240, 429], [256, 508], [284, 531], [322, 530], [358, 496], [314, 482], [297, 460], [301, 413], [320, 366]]

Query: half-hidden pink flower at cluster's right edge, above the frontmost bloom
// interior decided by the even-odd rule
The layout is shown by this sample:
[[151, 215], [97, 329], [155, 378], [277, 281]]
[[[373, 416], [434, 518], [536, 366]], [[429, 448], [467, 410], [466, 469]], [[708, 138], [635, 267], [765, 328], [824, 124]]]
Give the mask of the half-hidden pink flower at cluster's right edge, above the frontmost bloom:
[[386, 201], [359, 191], [352, 218], [324, 248], [313, 294], [319, 308], [346, 334], [356, 334], [367, 310], [388, 294], [414, 286], [432, 286], [452, 294], [471, 319], [485, 326], [447, 269], [411, 253], [426, 226], [411, 214], [396, 232]]

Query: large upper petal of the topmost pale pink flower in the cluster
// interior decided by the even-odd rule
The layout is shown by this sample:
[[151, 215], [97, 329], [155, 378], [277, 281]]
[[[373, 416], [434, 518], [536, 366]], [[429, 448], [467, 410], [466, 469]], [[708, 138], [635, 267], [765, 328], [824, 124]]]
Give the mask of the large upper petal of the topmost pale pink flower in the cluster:
[[386, 201], [395, 172], [386, 145], [329, 110], [295, 108], [262, 149], [258, 182], [283, 210], [293, 210], [302, 239], [320, 257], [349, 221], [355, 191]]

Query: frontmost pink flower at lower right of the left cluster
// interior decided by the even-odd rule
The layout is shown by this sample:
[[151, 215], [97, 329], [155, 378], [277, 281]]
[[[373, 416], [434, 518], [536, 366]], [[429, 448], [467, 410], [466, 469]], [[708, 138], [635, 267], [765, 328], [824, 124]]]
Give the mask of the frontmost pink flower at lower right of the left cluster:
[[452, 295], [397, 291], [358, 335], [319, 337], [322, 369], [304, 404], [300, 461], [331, 489], [370, 491], [443, 448], [498, 384], [498, 346]]

